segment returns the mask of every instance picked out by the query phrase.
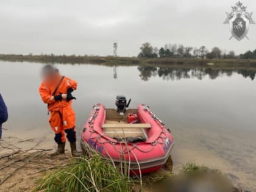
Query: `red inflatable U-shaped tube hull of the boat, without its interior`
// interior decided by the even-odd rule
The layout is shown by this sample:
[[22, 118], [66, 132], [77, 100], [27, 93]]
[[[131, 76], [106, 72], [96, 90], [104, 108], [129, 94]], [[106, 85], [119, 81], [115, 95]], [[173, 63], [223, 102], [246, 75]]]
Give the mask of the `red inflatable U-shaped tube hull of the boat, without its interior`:
[[130, 174], [146, 174], [162, 168], [171, 155], [174, 138], [146, 105], [138, 105], [137, 115], [141, 123], [151, 124], [150, 129], [145, 129], [148, 138], [140, 143], [120, 142], [104, 133], [102, 124], [106, 120], [106, 110], [104, 105], [97, 104], [85, 123], [82, 149], [90, 146], [115, 163], [126, 163]]

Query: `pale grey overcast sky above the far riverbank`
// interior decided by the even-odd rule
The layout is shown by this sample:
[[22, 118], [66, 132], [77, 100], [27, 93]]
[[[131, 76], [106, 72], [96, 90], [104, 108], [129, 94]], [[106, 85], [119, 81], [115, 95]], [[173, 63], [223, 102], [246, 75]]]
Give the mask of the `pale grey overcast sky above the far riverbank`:
[[[256, 49], [256, 25], [248, 37], [229, 40], [230, 0], [0, 0], [0, 53], [133, 56], [146, 41], [219, 46], [236, 54]], [[242, 1], [248, 12], [256, 2]]]

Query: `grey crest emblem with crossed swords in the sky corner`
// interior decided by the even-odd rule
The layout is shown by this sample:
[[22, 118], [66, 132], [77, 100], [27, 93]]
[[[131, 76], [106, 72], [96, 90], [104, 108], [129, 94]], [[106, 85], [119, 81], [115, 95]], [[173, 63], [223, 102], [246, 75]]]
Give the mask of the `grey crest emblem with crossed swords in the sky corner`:
[[249, 24], [255, 24], [252, 20], [252, 12], [247, 12], [247, 7], [244, 6], [240, 1], [236, 2], [235, 6], [232, 6], [232, 12], [226, 13], [227, 19], [224, 21], [224, 24], [229, 24], [230, 32], [232, 37], [235, 37], [236, 40], [240, 41], [244, 37], [247, 37], [249, 31]]

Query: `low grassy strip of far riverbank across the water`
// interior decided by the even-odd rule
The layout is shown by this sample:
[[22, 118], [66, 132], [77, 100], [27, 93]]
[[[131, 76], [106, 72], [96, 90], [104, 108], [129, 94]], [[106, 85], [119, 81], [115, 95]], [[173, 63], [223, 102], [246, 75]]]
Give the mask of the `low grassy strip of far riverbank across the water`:
[[[154, 65], [180, 68], [219, 68], [219, 69], [254, 69], [253, 59], [198, 59], [198, 58], [138, 58], [113, 56], [80, 56], [80, 55], [18, 55], [0, 54], [0, 60], [7, 62], [36, 62], [60, 64], [98, 64], [108, 66]], [[213, 65], [212, 65], [213, 64]]]

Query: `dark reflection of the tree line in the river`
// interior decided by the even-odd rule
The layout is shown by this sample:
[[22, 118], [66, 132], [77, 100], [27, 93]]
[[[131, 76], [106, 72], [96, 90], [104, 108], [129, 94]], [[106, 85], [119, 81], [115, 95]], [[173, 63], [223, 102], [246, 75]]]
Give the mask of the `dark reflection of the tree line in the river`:
[[232, 76], [233, 73], [241, 74], [243, 77], [249, 77], [254, 80], [256, 71], [250, 69], [189, 69], [189, 68], [170, 68], [157, 66], [138, 66], [141, 80], [149, 80], [151, 77], [162, 77], [163, 80], [180, 80], [196, 78], [202, 80], [205, 76], [210, 79], [216, 79], [221, 76]]

